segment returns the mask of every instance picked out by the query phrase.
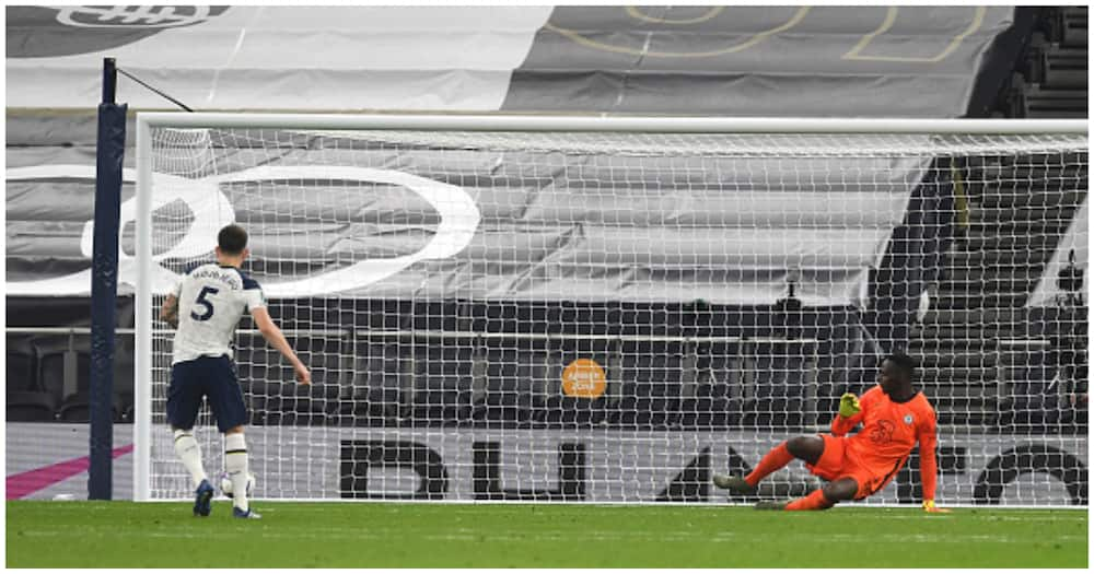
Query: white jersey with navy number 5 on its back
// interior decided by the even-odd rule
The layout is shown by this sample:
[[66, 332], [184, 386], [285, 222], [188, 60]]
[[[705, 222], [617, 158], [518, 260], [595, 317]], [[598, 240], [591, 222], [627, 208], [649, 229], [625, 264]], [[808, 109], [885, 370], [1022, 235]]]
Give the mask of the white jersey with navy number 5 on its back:
[[178, 330], [171, 364], [199, 356], [232, 356], [232, 338], [243, 311], [266, 306], [258, 282], [235, 267], [206, 263], [175, 284]]

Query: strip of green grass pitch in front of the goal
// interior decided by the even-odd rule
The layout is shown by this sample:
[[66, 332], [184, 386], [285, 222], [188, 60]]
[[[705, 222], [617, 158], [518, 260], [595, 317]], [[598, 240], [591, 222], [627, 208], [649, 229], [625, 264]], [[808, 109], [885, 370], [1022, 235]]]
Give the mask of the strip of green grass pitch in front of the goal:
[[1085, 567], [1085, 511], [8, 502], [9, 567]]

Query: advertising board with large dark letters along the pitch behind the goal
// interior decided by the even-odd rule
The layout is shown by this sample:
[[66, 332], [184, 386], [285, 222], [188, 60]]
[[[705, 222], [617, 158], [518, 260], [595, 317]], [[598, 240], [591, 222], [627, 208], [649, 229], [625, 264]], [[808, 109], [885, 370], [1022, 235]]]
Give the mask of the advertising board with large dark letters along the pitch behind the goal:
[[[132, 427], [116, 426], [116, 444]], [[216, 430], [199, 429], [214, 441]], [[65, 477], [68, 456], [86, 453], [86, 425], [7, 425], [9, 491], [13, 476], [60, 478], [27, 497], [84, 495], [86, 473]], [[190, 484], [165, 429], [153, 449], [153, 492], [186, 497]], [[959, 435], [942, 430], [939, 500], [945, 504], [1086, 504], [1085, 437]], [[592, 503], [735, 502], [710, 487], [712, 472], [747, 470], [783, 434], [757, 432], [484, 431], [252, 427], [257, 496], [269, 499], [568, 501]], [[49, 448], [42, 445], [48, 444]], [[206, 448], [207, 470], [221, 468]], [[132, 455], [115, 462], [115, 496], [131, 496]], [[870, 502], [919, 500], [911, 462]], [[44, 471], [43, 469], [46, 469]], [[48, 469], [55, 469], [53, 473]], [[817, 485], [793, 462], [772, 476], [768, 494], [799, 495]]]

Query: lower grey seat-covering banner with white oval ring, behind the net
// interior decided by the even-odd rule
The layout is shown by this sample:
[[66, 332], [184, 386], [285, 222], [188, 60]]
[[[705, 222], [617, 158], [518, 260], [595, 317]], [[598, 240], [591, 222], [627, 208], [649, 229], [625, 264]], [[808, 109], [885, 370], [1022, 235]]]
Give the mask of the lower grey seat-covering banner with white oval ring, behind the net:
[[[177, 280], [172, 261], [208, 257], [217, 231], [240, 222], [251, 234], [248, 271], [271, 298], [772, 305], [793, 281], [806, 306], [864, 308], [870, 270], [932, 163], [828, 157], [816, 142], [794, 148], [810, 154], [798, 162], [568, 149], [562, 164], [521, 142], [451, 151], [330, 137], [289, 152], [221, 147], [235, 134], [158, 150], [197, 160], [174, 162], [190, 166], [186, 176], [153, 174], [153, 220], [187, 221], [158, 232], [153, 293]], [[734, 144], [770, 149], [761, 137]], [[9, 164], [7, 177], [8, 294], [86, 295], [92, 206], [60, 198], [90, 185], [94, 168]], [[124, 171], [126, 183], [135, 177]], [[126, 292], [137, 279], [128, 187], [123, 199]], [[44, 226], [43, 213], [56, 215]]]

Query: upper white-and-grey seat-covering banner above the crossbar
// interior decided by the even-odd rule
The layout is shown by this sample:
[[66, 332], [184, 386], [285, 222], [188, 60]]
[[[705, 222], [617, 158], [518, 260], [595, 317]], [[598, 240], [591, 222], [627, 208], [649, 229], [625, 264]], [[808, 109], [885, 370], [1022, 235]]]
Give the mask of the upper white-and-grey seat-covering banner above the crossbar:
[[[8, 7], [7, 105], [94, 107], [115, 57], [195, 109], [958, 117], [1014, 20], [1011, 7]], [[119, 96], [167, 106], [125, 79]]]

